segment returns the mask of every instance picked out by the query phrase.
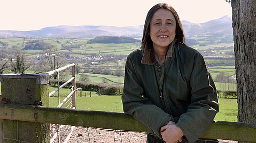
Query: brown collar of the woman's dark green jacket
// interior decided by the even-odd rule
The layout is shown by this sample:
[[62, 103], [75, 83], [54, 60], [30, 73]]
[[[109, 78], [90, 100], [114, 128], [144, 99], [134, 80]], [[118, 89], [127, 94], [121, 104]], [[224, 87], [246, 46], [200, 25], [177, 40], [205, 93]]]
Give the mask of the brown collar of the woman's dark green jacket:
[[[168, 57], [172, 57], [173, 56], [173, 52], [174, 52], [174, 48], [175, 48], [175, 43], [176, 39], [174, 39], [174, 41], [169, 45], [167, 54], [166, 54], [166, 58]], [[148, 48], [142, 48], [142, 60], [141, 60], [141, 64], [147, 64], [147, 65], [153, 65], [154, 63], [156, 63], [156, 60], [154, 58], [154, 54], [153, 51], [151, 49]]]

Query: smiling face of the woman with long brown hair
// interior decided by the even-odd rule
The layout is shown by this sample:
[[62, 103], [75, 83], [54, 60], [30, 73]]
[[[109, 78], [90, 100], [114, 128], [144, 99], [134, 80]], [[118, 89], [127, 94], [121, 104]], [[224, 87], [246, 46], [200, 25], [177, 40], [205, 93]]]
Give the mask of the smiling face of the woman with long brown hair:
[[172, 12], [166, 9], [157, 10], [150, 21], [150, 37], [153, 47], [168, 48], [174, 41], [176, 20]]

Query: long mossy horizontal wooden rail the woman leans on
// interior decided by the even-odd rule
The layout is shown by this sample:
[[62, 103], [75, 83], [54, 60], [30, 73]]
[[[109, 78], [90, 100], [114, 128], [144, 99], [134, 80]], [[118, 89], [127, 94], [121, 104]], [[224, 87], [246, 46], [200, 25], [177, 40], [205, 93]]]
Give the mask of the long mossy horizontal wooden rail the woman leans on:
[[[0, 103], [0, 119], [34, 122], [32, 105]], [[105, 128], [136, 132], [150, 132], [138, 121], [124, 113], [39, 107], [38, 122], [72, 126]], [[212, 123], [202, 137], [256, 142], [256, 124], [223, 122]]]

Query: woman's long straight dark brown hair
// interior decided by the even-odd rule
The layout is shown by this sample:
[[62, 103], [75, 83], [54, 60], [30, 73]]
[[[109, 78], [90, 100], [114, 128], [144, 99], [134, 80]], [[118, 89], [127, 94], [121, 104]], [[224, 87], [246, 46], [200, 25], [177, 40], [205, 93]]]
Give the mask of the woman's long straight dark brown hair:
[[153, 42], [151, 40], [150, 37], [150, 21], [154, 15], [154, 13], [159, 10], [159, 9], [166, 9], [169, 10], [170, 12], [173, 13], [175, 20], [176, 20], [176, 43], [177, 44], [185, 44], [185, 40], [184, 40], [184, 33], [182, 30], [182, 24], [180, 21], [180, 17], [178, 15], [178, 13], [174, 10], [173, 7], [171, 7], [168, 4], [164, 4], [164, 3], [160, 3], [157, 4], [155, 6], [153, 6], [150, 11], [148, 11], [147, 15], [146, 15], [146, 20], [145, 20], [145, 24], [144, 24], [144, 30], [143, 30], [143, 37], [142, 37], [142, 50], [144, 50], [144, 48], [147, 49], [152, 49], [153, 48]]

